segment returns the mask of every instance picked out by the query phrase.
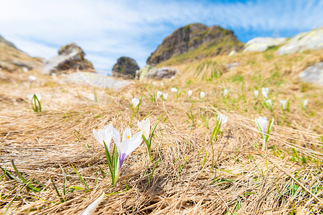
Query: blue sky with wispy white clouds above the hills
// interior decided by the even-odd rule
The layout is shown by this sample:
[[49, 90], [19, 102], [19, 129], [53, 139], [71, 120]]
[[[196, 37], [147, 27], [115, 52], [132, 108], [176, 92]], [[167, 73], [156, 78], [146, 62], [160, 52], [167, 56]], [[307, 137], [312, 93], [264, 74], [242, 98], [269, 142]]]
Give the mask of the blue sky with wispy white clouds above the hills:
[[323, 0], [10, 0], [1, 6], [0, 34], [29, 55], [49, 59], [75, 42], [96, 69], [107, 71], [121, 56], [142, 67], [164, 37], [191, 23], [231, 29], [242, 42], [323, 26]]

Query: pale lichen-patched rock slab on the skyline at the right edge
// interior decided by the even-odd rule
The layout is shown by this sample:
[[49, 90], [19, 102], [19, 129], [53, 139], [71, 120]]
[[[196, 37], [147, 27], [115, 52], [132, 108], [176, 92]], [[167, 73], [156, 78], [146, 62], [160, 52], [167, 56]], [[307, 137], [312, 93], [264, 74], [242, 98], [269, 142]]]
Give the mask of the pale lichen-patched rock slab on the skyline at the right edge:
[[310, 32], [300, 33], [288, 40], [288, 43], [281, 46], [277, 53], [292, 54], [307, 49], [323, 49], [323, 27]]

